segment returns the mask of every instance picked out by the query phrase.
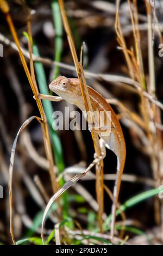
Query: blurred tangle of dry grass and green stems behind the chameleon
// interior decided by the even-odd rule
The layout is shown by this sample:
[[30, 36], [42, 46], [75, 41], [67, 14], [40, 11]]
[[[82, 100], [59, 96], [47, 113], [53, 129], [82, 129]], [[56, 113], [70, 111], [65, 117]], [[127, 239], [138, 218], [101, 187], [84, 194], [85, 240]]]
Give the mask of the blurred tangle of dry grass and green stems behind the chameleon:
[[[124, 39], [129, 50], [134, 48], [133, 27], [130, 19], [130, 1], [121, 1], [120, 21]], [[133, 4], [135, 1], [131, 1]], [[145, 1], [136, 1], [139, 13], [140, 50], [146, 84], [149, 76], [149, 52], [148, 52], [148, 18]], [[149, 1], [150, 2], [150, 1]], [[152, 26], [153, 26], [153, 50], [155, 71], [155, 95], [156, 100], [162, 102], [162, 58], [159, 57], [158, 45], [162, 40], [162, 1], [152, 1]], [[61, 15], [57, 1], [8, 1], [10, 14], [14, 22], [20, 45], [24, 49], [29, 64], [27, 17], [28, 11], [32, 13], [32, 39], [34, 58], [41, 56], [34, 62], [36, 81], [41, 93], [48, 94], [48, 84], [59, 75], [77, 77], [74, 64], [68, 46], [66, 34], [61, 22]], [[129, 110], [142, 118], [140, 111], [141, 97], [131, 85], [129, 70], [122, 48], [117, 41], [115, 32], [116, 1], [65, 1], [68, 21], [70, 22], [74, 42], [78, 56], [80, 48], [84, 44], [84, 69], [87, 84], [106, 99], [116, 99]], [[159, 33], [158, 33], [159, 30]], [[4, 196], [0, 204], [0, 241], [2, 244], [10, 244], [9, 229], [9, 194], [8, 194], [8, 170], [12, 143], [22, 123], [32, 115], [39, 115], [33, 93], [28, 84], [22, 63], [16, 46], [5, 20], [5, 15], [0, 16], [0, 42], [3, 45], [3, 57], [1, 57], [0, 80], [0, 185], [4, 188]], [[40, 60], [40, 61], [39, 61]], [[56, 65], [59, 63], [59, 65]], [[148, 89], [145, 90], [148, 92]], [[151, 101], [149, 101], [151, 102]], [[67, 170], [64, 180], [83, 170], [93, 160], [93, 143], [89, 131], [58, 131], [51, 128], [52, 112], [63, 111], [67, 102], [43, 102], [49, 124], [49, 131], [54, 154], [55, 170], [62, 173]], [[158, 187], [162, 182], [162, 112], [156, 111], [153, 123], [155, 139], [149, 142], [146, 130], [142, 127], [135, 129], [134, 121], [130, 122], [127, 115], [123, 115], [120, 104], [111, 105], [120, 117], [122, 130], [127, 146], [127, 160], [122, 178], [120, 202], [123, 204], [136, 194], [130, 208], [126, 212], [125, 220], [117, 218], [117, 237], [124, 231], [121, 239], [116, 243], [130, 244], [162, 244], [163, 227], [161, 200], [158, 202]], [[146, 107], [146, 106], [142, 106]], [[156, 107], [159, 109], [159, 107]], [[149, 109], [147, 109], [150, 115]], [[122, 115], [122, 117], [121, 117]], [[127, 121], [128, 120], [128, 121]], [[158, 121], [159, 120], [159, 121]], [[65, 117], [65, 122], [69, 123]], [[143, 119], [142, 119], [143, 122]], [[150, 127], [149, 127], [150, 128]], [[150, 130], [150, 129], [149, 129]], [[151, 131], [150, 131], [151, 132]], [[153, 134], [153, 132], [151, 132]], [[158, 145], [159, 147], [155, 147]], [[160, 145], [161, 144], [161, 145]], [[153, 149], [151, 149], [151, 148]], [[150, 151], [149, 148], [153, 151]], [[151, 153], [154, 152], [154, 153]], [[156, 154], [158, 153], [158, 154]], [[159, 155], [160, 153], [160, 155]], [[155, 157], [152, 162], [151, 155]], [[154, 164], [158, 167], [155, 168]], [[13, 194], [14, 194], [14, 230], [16, 239], [22, 243], [40, 244], [40, 232], [43, 209], [52, 196], [51, 181], [47, 172], [45, 148], [41, 126], [33, 121], [22, 132], [17, 143], [14, 166]], [[65, 169], [66, 168], [66, 169]], [[95, 173], [92, 170], [92, 173]], [[116, 156], [107, 150], [104, 159], [105, 185], [114, 186], [116, 173]], [[113, 174], [111, 176], [111, 174]], [[151, 193], [152, 191], [152, 193]], [[148, 192], [147, 194], [143, 194]], [[155, 196], [156, 194], [156, 196]], [[155, 197], [154, 197], [155, 196]], [[146, 199], [146, 200], [144, 200]], [[111, 199], [108, 193], [104, 193], [105, 217], [109, 216]], [[143, 200], [143, 202], [141, 202]], [[163, 200], [163, 199], [162, 199]], [[139, 203], [135, 206], [136, 203]], [[97, 209], [95, 175], [87, 176], [74, 185], [60, 199], [62, 208], [61, 216], [58, 216], [57, 203], [53, 205], [53, 213], [48, 217], [45, 235], [49, 236], [49, 243], [56, 242], [54, 225], [61, 220], [62, 244], [82, 244], [88, 242], [110, 243], [109, 230], [105, 235], [99, 234], [97, 229]], [[131, 207], [132, 206], [132, 207]], [[126, 228], [124, 228], [126, 225]], [[109, 227], [109, 226], [108, 226]], [[54, 231], [53, 231], [54, 229]], [[123, 230], [124, 229], [124, 230]], [[85, 236], [79, 230], [85, 230]], [[86, 233], [87, 231], [87, 233]], [[89, 232], [96, 234], [96, 238]], [[98, 235], [97, 235], [98, 234]], [[21, 241], [25, 237], [25, 240]], [[28, 238], [30, 237], [30, 239]], [[91, 240], [92, 239], [92, 240]], [[94, 239], [94, 240], [93, 240]], [[47, 243], [48, 243], [47, 242]]]

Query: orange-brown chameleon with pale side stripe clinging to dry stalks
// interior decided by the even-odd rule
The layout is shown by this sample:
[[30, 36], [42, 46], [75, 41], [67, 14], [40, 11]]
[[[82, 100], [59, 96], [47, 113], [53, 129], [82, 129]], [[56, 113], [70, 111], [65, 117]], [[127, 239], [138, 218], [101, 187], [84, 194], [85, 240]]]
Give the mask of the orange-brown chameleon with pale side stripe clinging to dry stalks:
[[[43, 100], [51, 100], [51, 101], [61, 101], [66, 100], [67, 102], [76, 105], [81, 111], [85, 111], [85, 105], [82, 97], [82, 92], [80, 90], [80, 84], [78, 78], [67, 78], [65, 76], [59, 76], [57, 79], [52, 81], [49, 84], [49, 89], [52, 90], [55, 94], [59, 96], [51, 96], [39, 94], [40, 99]], [[114, 237], [114, 226], [116, 219], [116, 209], [118, 196], [120, 193], [121, 186], [121, 175], [123, 173], [124, 164], [126, 161], [126, 143], [124, 140], [123, 132], [121, 129], [121, 125], [117, 119], [117, 116], [108, 102], [104, 99], [104, 97], [99, 94], [95, 89], [87, 86], [90, 101], [92, 105], [93, 111], [104, 111], [106, 114], [104, 115], [104, 120], [102, 120], [102, 124], [98, 127], [97, 131], [99, 139], [99, 144], [101, 146], [101, 150], [103, 153], [103, 158], [106, 155], [105, 148], [110, 149], [117, 157], [117, 171], [116, 171], [116, 181], [114, 185], [113, 192], [113, 203], [111, 208], [111, 237]], [[111, 115], [108, 115], [111, 113]], [[110, 119], [109, 121], [107, 119]], [[109, 132], [104, 132], [104, 127], [108, 123], [111, 125], [111, 129]]]

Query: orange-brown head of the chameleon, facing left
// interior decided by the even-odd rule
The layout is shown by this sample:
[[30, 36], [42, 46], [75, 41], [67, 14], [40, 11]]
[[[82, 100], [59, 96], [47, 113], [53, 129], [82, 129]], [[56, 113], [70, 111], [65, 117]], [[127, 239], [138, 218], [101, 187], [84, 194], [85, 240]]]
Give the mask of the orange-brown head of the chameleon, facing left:
[[76, 104], [78, 97], [82, 95], [77, 78], [59, 76], [49, 84], [49, 89], [72, 104]]

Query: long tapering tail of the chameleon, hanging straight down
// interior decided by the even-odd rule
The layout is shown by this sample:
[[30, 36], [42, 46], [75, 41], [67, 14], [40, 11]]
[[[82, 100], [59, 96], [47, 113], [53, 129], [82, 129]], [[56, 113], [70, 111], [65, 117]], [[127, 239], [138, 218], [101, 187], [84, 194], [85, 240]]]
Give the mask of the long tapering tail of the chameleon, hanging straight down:
[[116, 180], [115, 180], [114, 192], [113, 192], [114, 200], [111, 208], [111, 227], [110, 227], [111, 238], [114, 237], [116, 209], [117, 209], [118, 196], [120, 193], [121, 176], [123, 173], [123, 169], [124, 169], [124, 161], [120, 161], [120, 158], [117, 157], [117, 173], [116, 173]]

